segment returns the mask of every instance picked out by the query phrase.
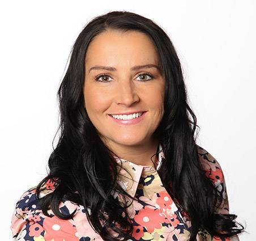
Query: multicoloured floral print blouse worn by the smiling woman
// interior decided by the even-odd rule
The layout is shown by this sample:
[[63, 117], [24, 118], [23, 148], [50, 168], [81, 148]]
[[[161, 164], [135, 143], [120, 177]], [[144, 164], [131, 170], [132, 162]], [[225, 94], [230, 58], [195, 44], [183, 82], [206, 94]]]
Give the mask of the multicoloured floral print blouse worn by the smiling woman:
[[[206, 170], [208, 178], [215, 183], [225, 202], [220, 213], [229, 213], [227, 190], [220, 164], [206, 150], [198, 146], [199, 157]], [[127, 208], [131, 218], [134, 231], [130, 240], [170, 240], [185, 241], [189, 239], [190, 221], [185, 213], [180, 212], [168, 192], [163, 187], [159, 177], [159, 169], [165, 161], [161, 144], [157, 168], [131, 163], [124, 159], [115, 157], [118, 163], [122, 162], [122, 170], [118, 176], [123, 189], [131, 196], [135, 196], [133, 204]], [[133, 179], [129, 176], [130, 173]], [[54, 190], [52, 181], [45, 184], [42, 195], [49, 194]], [[120, 198], [114, 192], [115, 198]], [[89, 225], [87, 216], [82, 205], [63, 200], [59, 204], [62, 213], [75, 215], [70, 220], [61, 220], [54, 215], [50, 209], [51, 217], [45, 216], [35, 196], [35, 187], [32, 187], [20, 197], [16, 203], [15, 211], [11, 220], [11, 231], [13, 240], [20, 241], [89, 241], [103, 240]], [[239, 240], [236, 237], [220, 239], [211, 236], [207, 231], [199, 231], [197, 240]]]

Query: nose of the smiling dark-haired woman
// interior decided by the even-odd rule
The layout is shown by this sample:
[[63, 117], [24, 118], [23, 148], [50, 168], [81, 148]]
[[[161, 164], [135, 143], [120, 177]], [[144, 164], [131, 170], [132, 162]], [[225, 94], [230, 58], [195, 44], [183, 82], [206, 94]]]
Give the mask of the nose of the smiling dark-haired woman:
[[124, 104], [125, 106], [131, 106], [134, 102], [139, 101], [139, 95], [134, 86], [133, 81], [123, 80], [117, 86], [116, 102], [117, 104]]

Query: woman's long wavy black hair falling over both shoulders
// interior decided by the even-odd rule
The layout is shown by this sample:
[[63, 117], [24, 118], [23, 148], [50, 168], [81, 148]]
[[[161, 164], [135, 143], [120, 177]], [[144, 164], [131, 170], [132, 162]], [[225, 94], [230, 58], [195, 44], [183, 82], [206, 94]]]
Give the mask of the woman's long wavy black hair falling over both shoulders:
[[[40, 198], [42, 211], [49, 216], [50, 206], [57, 217], [69, 219], [74, 213], [64, 215], [58, 205], [63, 199], [71, 200], [85, 207], [89, 222], [104, 240], [127, 240], [133, 230], [125, 204], [114, 199], [112, 192], [132, 197], [118, 185], [113, 152], [99, 138], [84, 108], [86, 50], [97, 34], [109, 29], [146, 33], [159, 54], [166, 80], [164, 116], [154, 133], [165, 155], [160, 177], [178, 207], [189, 214], [190, 240], [195, 240], [202, 227], [221, 237], [241, 233], [244, 227], [241, 230], [237, 228], [236, 215], [215, 213], [222, 199], [200, 168], [195, 143], [197, 118], [187, 103], [181, 64], [172, 42], [152, 20], [127, 11], [112, 11], [95, 17], [72, 46], [70, 63], [58, 90], [61, 116], [58, 131], [61, 134], [49, 157], [49, 174], [37, 186], [37, 198], [49, 179], [54, 180], [57, 186], [52, 193]], [[123, 213], [125, 215], [121, 215]], [[109, 230], [117, 232], [119, 238], [112, 236]]]

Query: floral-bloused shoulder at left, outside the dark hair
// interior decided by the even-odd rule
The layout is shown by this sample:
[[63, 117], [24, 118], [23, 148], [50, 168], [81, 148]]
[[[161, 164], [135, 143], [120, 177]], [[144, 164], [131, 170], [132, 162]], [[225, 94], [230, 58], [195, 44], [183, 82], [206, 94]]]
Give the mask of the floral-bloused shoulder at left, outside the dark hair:
[[[52, 193], [57, 183], [49, 180], [42, 186], [39, 198]], [[42, 212], [39, 200], [36, 198], [36, 187], [25, 191], [16, 203], [11, 220], [13, 240], [103, 240], [93, 230], [82, 205], [70, 200], [62, 199], [59, 203], [62, 214], [71, 214], [73, 218], [63, 220], [54, 215], [52, 209], [48, 210], [49, 216]], [[88, 212], [90, 209], [88, 208]]]

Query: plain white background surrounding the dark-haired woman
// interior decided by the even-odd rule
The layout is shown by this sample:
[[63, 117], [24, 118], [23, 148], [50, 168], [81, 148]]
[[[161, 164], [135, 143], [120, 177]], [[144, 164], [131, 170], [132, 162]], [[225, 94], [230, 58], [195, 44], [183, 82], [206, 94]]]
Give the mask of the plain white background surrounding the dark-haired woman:
[[[57, 89], [71, 46], [93, 17], [126, 10], [169, 34], [180, 56], [198, 143], [221, 164], [230, 212], [255, 240], [255, 1], [5, 1], [1, 21], [1, 240], [20, 195], [46, 175]], [[56, 143], [56, 141], [54, 142]]]

